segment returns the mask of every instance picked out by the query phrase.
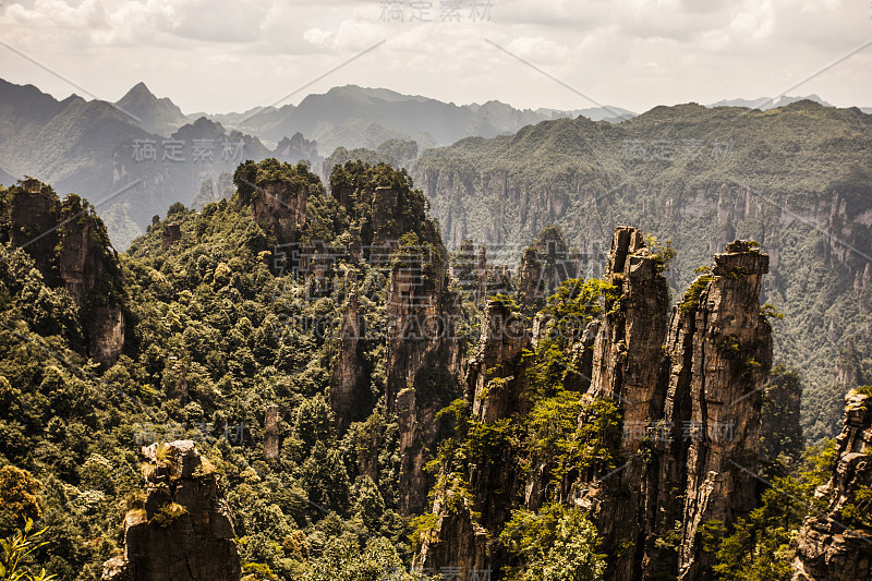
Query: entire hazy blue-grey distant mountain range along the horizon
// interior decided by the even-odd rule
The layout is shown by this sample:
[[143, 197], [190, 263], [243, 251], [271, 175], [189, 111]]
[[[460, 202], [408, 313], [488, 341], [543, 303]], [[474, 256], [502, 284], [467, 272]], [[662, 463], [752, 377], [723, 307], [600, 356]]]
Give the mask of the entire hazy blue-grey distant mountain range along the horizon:
[[[764, 100], [735, 99], [708, 107], [746, 107]], [[778, 106], [794, 100], [785, 97]], [[221, 174], [232, 173], [244, 159], [305, 159], [322, 172], [324, 158], [339, 147], [346, 150], [336, 158], [349, 155], [347, 150], [382, 146], [420, 154], [465, 137], [507, 136], [543, 121], [579, 116], [617, 123], [635, 113], [608, 106], [516, 109], [497, 100], [458, 106], [347, 85], [308, 95], [296, 106], [184, 114], [144, 83], [112, 104], [76, 95], [57, 100], [32, 85], [0, 80], [0, 183], [32, 175], [61, 193], [87, 196], [97, 203], [112, 240], [123, 250], [173, 202], [208, 202], [204, 184], [228, 183]], [[411, 141], [416, 144], [401, 145]], [[413, 159], [403, 162], [411, 166]]]

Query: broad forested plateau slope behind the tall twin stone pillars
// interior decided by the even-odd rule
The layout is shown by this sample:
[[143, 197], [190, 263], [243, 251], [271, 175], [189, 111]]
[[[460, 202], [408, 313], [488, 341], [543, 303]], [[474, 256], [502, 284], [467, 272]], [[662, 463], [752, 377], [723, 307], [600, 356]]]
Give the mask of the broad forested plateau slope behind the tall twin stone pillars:
[[[759, 241], [772, 257], [763, 301], [785, 314], [776, 359], [802, 371], [802, 421], [818, 439], [871, 368], [871, 153], [872, 117], [856, 108], [691, 104], [617, 125], [578, 118], [467, 138], [426, 152], [412, 175], [449, 246], [520, 249], [557, 223], [582, 273], [597, 276], [614, 226], [670, 239], [674, 298], [726, 242]], [[848, 380], [834, 385], [837, 375]]]

